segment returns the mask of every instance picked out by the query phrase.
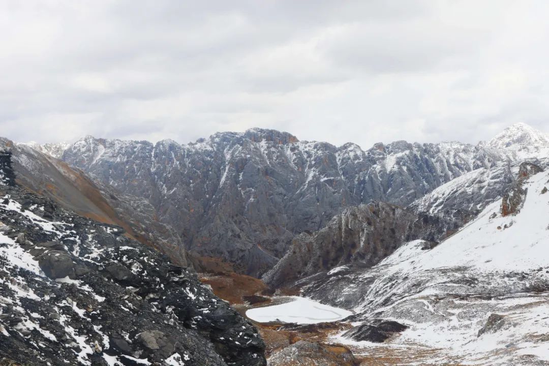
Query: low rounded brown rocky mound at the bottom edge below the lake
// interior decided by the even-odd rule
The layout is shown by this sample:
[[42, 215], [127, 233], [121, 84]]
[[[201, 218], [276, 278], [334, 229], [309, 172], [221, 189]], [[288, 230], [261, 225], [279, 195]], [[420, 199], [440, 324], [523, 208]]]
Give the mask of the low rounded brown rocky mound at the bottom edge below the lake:
[[301, 340], [272, 354], [269, 366], [358, 366], [349, 348]]

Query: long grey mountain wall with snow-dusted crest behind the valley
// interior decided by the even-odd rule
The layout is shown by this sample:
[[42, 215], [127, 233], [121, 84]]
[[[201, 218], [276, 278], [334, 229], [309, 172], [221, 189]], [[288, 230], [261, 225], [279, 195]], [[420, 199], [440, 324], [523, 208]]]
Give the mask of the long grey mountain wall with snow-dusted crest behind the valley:
[[62, 159], [117, 192], [147, 200], [187, 248], [259, 275], [295, 234], [372, 200], [406, 206], [441, 184], [514, 159], [460, 143], [300, 142], [285, 132], [216, 133], [196, 143], [81, 139]]

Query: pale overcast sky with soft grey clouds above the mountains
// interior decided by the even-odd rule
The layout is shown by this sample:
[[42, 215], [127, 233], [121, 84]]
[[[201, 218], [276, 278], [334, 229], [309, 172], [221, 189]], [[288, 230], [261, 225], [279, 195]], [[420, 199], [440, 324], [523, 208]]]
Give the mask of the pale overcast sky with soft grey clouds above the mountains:
[[549, 132], [549, 2], [0, 0], [0, 136]]

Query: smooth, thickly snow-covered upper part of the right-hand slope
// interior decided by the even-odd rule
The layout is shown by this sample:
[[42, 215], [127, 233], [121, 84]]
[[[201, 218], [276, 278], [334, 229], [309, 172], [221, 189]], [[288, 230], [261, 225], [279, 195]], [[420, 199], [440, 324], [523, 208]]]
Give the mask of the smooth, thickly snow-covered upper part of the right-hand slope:
[[[549, 174], [528, 179], [524, 206], [502, 216], [497, 200], [451, 238], [413, 258], [415, 271], [467, 266], [481, 271], [526, 271], [549, 266]], [[410, 266], [406, 261], [402, 268]], [[545, 275], [543, 276], [546, 277]], [[549, 277], [548, 277], [549, 278]]]

